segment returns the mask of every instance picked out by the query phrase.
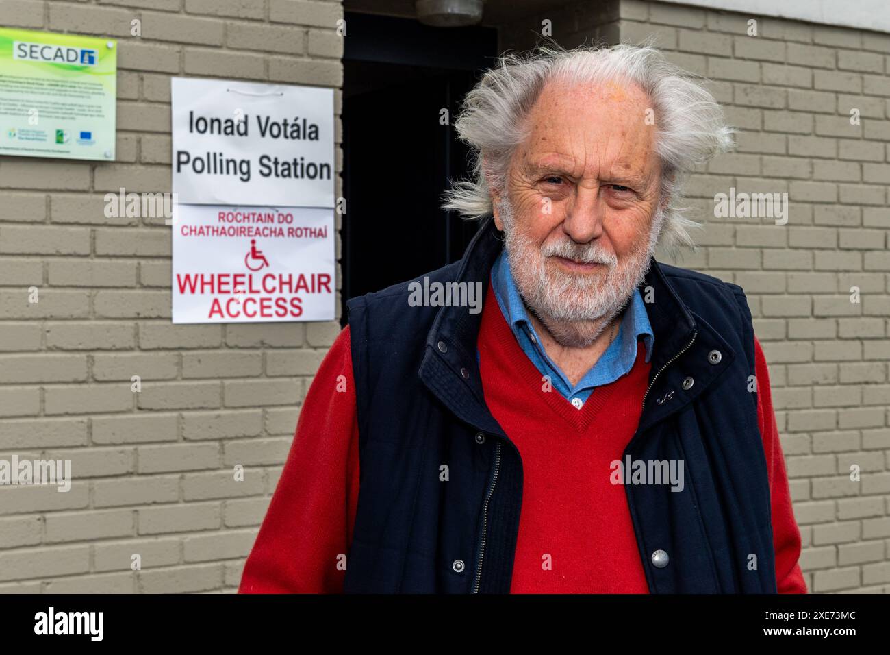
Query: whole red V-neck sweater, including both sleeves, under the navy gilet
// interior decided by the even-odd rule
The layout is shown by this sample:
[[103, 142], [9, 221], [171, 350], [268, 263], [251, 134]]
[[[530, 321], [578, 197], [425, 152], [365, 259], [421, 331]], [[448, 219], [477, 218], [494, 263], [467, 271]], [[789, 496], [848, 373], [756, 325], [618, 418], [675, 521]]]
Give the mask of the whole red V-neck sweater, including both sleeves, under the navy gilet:
[[[634, 368], [595, 389], [578, 410], [558, 391], [540, 392], [541, 374], [522, 353], [491, 292], [478, 339], [482, 386], [492, 415], [522, 455], [511, 593], [648, 593], [625, 489], [609, 481], [610, 463], [621, 459], [641, 413], [649, 373], [642, 342]], [[756, 341], [755, 351], [776, 580], [781, 594], [805, 594], [797, 564], [800, 533]], [[358, 495], [359, 430], [347, 326], [306, 395], [239, 593], [341, 593]]]

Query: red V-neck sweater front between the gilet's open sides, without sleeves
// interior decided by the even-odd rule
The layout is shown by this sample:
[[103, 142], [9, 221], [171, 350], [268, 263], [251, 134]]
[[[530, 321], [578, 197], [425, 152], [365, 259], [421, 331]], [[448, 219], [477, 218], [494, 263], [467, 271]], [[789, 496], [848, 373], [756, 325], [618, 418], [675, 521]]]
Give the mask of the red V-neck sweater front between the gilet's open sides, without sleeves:
[[634, 436], [649, 384], [643, 340], [634, 367], [594, 389], [576, 409], [542, 393], [491, 297], [482, 310], [479, 355], [485, 404], [522, 456], [522, 512], [511, 594], [648, 594], [634, 527], [611, 463]]

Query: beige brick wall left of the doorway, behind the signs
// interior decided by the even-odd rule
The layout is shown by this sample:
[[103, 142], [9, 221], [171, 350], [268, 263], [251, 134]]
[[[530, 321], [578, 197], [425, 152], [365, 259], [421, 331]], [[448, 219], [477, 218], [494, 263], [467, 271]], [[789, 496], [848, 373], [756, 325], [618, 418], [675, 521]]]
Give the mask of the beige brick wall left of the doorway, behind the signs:
[[0, 487], [0, 594], [237, 588], [339, 325], [174, 326], [170, 227], [107, 218], [103, 196], [170, 191], [171, 76], [335, 87], [339, 171], [342, 17], [336, 1], [0, 0], [4, 27], [118, 42], [117, 161], [0, 157], [0, 459], [70, 460], [74, 479]]

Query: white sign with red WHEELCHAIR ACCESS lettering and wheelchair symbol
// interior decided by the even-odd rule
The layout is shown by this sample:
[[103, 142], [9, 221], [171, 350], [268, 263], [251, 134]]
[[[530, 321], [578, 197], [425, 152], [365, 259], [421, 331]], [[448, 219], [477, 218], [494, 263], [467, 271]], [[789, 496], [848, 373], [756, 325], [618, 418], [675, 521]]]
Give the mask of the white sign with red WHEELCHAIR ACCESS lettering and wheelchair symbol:
[[334, 319], [334, 209], [178, 204], [173, 231], [173, 323]]

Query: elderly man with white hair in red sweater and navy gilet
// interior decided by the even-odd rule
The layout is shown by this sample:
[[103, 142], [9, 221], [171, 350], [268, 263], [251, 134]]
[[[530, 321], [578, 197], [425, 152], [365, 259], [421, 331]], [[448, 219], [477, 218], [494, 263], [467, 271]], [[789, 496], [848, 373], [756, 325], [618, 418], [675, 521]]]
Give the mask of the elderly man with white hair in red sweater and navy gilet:
[[744, 293], [652, 257], [732, 144], [713, 97], [648, 47], [546, 48], [457, 129], [480, 230], [350, 301], [239, 591], [805, 593]]

